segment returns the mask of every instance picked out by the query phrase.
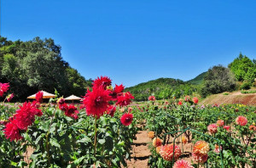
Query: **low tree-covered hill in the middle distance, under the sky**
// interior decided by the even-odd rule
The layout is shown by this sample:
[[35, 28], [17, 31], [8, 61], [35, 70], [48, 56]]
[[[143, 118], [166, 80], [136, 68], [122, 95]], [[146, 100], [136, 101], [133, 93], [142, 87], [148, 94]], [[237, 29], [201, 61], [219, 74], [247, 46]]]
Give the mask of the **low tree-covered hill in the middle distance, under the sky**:
[[127, 87], [125, 92], [131, 92], [136, 101], [145, 101], [151, 95], [154, 95], [156, 99], [180, 98], [183, 95], [192, 94], [194, 90], [188, 82], [172, 78], [159, 78], [134, 87]]

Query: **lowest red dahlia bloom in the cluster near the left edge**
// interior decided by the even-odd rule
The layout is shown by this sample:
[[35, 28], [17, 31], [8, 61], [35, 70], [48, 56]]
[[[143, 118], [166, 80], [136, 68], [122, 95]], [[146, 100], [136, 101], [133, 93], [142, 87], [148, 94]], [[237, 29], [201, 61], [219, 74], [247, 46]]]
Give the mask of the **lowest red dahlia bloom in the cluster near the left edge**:
[[17, 120], [10, 120], [10, 122], [6, 124], [5, 129], [3, 129], [5, 137], [11, 142], [14, 140], [18, 141], [23, 138], [20, 135], [20, 129], [17, 126], [16, 121]]

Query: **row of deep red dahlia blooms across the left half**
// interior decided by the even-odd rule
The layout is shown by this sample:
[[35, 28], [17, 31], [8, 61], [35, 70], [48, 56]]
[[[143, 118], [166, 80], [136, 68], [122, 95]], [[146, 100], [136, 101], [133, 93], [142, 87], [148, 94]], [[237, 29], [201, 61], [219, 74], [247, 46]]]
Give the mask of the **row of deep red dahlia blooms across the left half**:
[[[124, 107], [131, 104], [131, 99], [134, 97], [130, 92], [123, 92], [125, 87], [121, 85], [115, 85], [111, 88], [111, 80], [107, 76], [98, 77], [93, 82], [92, 91], [87, 90], [84, 96], [83, 104], [80, 109], [86, 109], [87, 115], [96, 117], [97, 119], [101, 117], [104, 113], [111, 115], [113, 117], [116, 106]], [[9, 90], [9, 83], [0, 83], [0, 97], [3, 97], [4, 92]], [[9, 138], [10, 141], [20, 140], [21, 132], [26, 132], [28, 126], [32, 126], [35, 120], [35, 116], [42, 116], [42, 110], [40, 108], [40, 103], [43, 102], [44, 92], [39, 91], [36, 94], [36, 100], [32, 103], [25, 102], [20, 105], [20, 109], [16, 110], [15, 115], [9, 118], [9, 121], [5, 121], [4, 134], [5, 137]], [[9, 94], [7, 100], [10, 101], [14, 94]], [[109, 104], [110, 102], [116, 101], [115, 105]], [[79, 118], [79, 110], [73, 104], [66, 104], [64, 98], [59, 98], [57, 100], [59, 104], [59, 109], [61, 109], [65, 115], [72, 117], [74, 120]], [[129, 126], [133, 120], [133, 115], [131, 111], [125, 113], [120, 118], [123, 125]]]

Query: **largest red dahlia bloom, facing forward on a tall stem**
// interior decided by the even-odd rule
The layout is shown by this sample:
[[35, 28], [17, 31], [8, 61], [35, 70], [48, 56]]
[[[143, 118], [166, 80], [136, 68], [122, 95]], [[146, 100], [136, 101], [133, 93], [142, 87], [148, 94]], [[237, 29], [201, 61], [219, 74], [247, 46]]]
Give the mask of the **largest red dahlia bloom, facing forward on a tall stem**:
[[102, 116], [108, 109], [108, 102], [112, 100], [110, 93], [103, 87], [93, 87], [92, 92], [88, 90], [83, 101], [87, 115]]

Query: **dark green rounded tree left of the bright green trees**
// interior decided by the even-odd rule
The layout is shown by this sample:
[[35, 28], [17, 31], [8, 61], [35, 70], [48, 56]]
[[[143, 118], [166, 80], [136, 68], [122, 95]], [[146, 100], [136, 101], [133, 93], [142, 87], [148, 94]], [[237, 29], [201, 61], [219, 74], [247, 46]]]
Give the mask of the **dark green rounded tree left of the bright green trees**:
[[233, 91], [236, 88], [235, 79], [228, 68], [222, 65], [213, 66], [207, 71], [201, 88], [201, 96], [219, 92]]

